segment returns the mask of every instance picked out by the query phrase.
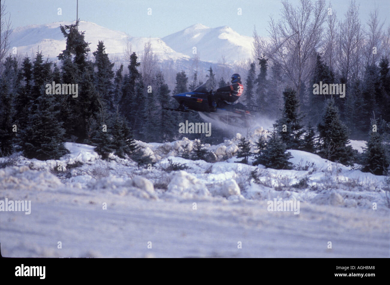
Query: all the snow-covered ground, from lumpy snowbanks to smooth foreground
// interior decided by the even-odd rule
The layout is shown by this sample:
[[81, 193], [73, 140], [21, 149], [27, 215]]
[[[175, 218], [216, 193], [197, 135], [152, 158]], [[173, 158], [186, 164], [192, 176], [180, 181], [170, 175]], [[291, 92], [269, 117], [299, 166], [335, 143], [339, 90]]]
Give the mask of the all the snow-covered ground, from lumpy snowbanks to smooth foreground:
[[[255, 130], [250, 140], [260, 133]], [[240, 137], [205, 145], [215, 163], [177, 157], [192, 148], [185, 138], [139, 142], [155, 160], [139, 170], [131, 160], [101, 160], [93, 147], [74, 143], [66, 143], [71, 153], [57, 161], [14, 157], [14, 165], [0, 169], [0, 201], [30, 200], [31, 214], [0, 212], [2, 254], [390, 256], [385, 176], [297, 150], [289, 150], [293, 170], [240, 164]], [[168, 171], [169, 160], [191, 168]], [[299, 214], [268, 211], [268, 201], [299, 201]]]

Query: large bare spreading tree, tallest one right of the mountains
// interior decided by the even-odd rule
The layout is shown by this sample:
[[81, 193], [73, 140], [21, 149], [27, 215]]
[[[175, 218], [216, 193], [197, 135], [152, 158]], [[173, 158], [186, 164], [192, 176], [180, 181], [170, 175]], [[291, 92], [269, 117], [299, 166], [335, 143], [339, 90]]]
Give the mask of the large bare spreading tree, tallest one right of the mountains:
[[313, 5], [310, 0], [301, 0], [296, 8], [287, 0], [282, 0], [282, 4], [281, 19], [276, 22], [270, 17], [271, 45], [266, 56], [280, 63], [303, 100], [301, 86], [312, 74], [313, 55], [323, 37], [325, 1], [317, 0]]

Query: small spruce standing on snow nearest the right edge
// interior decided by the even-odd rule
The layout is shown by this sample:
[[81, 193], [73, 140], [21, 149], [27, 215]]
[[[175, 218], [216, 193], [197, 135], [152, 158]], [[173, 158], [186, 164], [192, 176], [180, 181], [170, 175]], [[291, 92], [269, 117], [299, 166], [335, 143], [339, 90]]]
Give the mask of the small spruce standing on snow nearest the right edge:
[[[372, 119], [371, 126], [378, 126], [378, 120]], [[382, 136], [376, 130], [369, 132], [369, 140], [364, 150], [363, 172], [371, 172], [375, 175], [385, 175], [389, 167], [389, 157], [383, 144]]]

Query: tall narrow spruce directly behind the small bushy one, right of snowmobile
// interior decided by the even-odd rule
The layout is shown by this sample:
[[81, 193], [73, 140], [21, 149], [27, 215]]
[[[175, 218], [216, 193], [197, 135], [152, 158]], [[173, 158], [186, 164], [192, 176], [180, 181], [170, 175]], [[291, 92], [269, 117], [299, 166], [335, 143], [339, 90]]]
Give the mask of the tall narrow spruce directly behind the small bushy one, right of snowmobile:
[[292, 88], [286, 88], [283, 92], [284, 108], [282, 118], [276, 121], [278, 135], [289, 149], [300, 149], [301, 137], [304, 133], [301, 121], [303, 116], [298, 113], [299, 102], [296, 97], [296, 91]]

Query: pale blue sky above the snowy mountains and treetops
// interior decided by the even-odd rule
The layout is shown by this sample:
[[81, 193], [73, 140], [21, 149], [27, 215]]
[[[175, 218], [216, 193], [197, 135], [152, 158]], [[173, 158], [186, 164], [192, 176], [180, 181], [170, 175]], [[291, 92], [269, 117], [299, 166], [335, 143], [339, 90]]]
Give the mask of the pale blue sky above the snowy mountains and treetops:
[[[4, 0], [2, 0], [4, 1]], [[282, 5], [278, 0], [79, 0], [79, 18], [128, 33], [135, 37], [164, 37], [196, 23], [209, 27], [230, 26], [242, 35], [252, 35], [253, 27], [266, 36], [269, 14], [278, 18]], [[290, 1], [293, 5], [298, 0]], [[349, 1], [331, 1], [338, 18]], [[390, 0], [356, 0], [363, 23], [374, 3], [389, 24]], [[14, 28], [76, 19], [76, 0], [5, 0]], [[329, 3], [329, 1], [327, 1]], [[62, 15], [57, 15], [57, 9]], [[147, 15], [151, 8], [152, 15]], [[238, 16], [238, 8], [242, 15]]]

